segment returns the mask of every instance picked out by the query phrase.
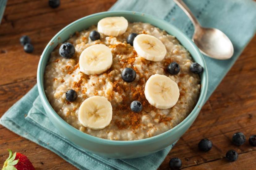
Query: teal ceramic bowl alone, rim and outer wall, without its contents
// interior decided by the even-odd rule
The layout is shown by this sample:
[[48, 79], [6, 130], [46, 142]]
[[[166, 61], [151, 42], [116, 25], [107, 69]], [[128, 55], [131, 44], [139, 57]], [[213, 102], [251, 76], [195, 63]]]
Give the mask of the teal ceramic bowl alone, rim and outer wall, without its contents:
[[[70, 35], [73, 35], [75, 31], [82, 31], [87, 29], [91, 25], [96, 25], [97, 22], [105, 17], [111, 16], [123, 16], [129, 22], [147, 22], [162, 30], [166, 30], [169, 34], [174, 35], [181, 44], [186, 47], [190, 52], [193, 59], [203, 66], [204, 71], [200, 75], [201, 77], [201, 92], [196, 106], [193, 111], [176, 127], [164, 132], [160, 135], [153, 136], [142, 140], [132, 140], [132, 141], [115, 141], [101, 139], [95, 136], [83, 133], [68, 123], [66, 123], [51, 107], [48, 102], [45, 91], [44, 91], [44, 71], [45, 66], [49, 60], [50, 53], [58, 45], [58, 43], [66, 41]], [[156, 18], [151, 15], [142, 14], [132, 11], [108, 11], [101, 12], [97, 14], [92, 14], [84, 18], [78, 19], [72, 22], [61, 31], [59, 31], [45, 47], [41, 55], [41, 59], [38, 64], [37, 70], [37, 86], [39, 95], [44, 106], [44, 109], [58, 130], [74, 144], [83, 148], [85, 151], [92, 152], [94, 154], [105, 156], [109, 158], [137, 158], [142, 156], [147, 156], [151, 153], [160, 151], [167, 146], [173, 144], [178, 140], [191, 126], [191, 124], [196, 119], [201, 107], [203, 106], [208, 86], [208, 74], [206, 63], [203, 59], [202, 54], [199, 52], [198, 48], [195, 46], [185, 34], [178, 30], [175, 26], [170, 25], [168, 22]]]

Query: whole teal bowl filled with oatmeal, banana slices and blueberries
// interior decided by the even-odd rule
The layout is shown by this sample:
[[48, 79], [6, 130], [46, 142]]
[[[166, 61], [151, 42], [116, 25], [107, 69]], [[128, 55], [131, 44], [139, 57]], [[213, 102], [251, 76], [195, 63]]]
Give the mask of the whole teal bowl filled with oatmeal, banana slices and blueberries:
[[151, 15], [102, 12], [59, 31], [37, 70], [47, 116], [70, 142], [110, 158], [136, 158], [177, 141], [203, 106], [202, 54]]

